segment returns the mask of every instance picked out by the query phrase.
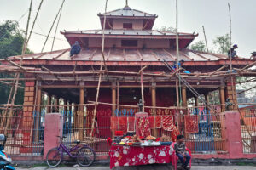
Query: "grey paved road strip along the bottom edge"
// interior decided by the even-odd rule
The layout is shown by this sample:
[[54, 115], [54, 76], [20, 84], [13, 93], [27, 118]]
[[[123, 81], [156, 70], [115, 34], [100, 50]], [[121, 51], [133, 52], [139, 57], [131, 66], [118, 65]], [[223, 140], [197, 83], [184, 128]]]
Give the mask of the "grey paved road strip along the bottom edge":
[[[28, 168], [17, 168], [18, 170], [25, 170]], [[30, 170], [46, 170], [48, 167], [33, 167]], [[142, 166], [142, 167], [120, 167], [116, 170], [170, 170], [166, 166]], [[59, 167], [55, 170], [109, 170], [109, 167]], [[256, 170], [256, 167], [250, 166], [194, 166], [191, 170]]]

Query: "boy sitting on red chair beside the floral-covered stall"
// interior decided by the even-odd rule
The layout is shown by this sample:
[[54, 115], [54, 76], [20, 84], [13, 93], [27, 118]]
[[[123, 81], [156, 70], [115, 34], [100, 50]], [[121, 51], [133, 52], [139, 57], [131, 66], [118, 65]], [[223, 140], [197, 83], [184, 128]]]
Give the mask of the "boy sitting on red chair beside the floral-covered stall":
[[[174, 150], [176, 151], [178, 159], [182, 162], [183, 168], [190, 169], [188, 165], [191, 157], [189, 156], [189, 153], [186, 152], [186, 144], [184, 143], [183, 135], [177, 135], [177, 142], [174, 144]], [[184, 158], [186, 161], [184, 161]]]

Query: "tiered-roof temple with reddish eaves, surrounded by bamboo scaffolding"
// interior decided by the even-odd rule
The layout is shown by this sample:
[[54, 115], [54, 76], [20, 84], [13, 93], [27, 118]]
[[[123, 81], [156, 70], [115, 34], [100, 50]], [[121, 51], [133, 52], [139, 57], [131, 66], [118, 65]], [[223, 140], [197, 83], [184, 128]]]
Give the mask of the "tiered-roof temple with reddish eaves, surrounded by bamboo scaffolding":
[[[154, 30], [157, 14], [132, 9], [127, 4], [124, 8], [106, 14], [99, 13], [97, 16], [102, 26], [100, 29], [61, 31], [70, 45], [79, 42], [82, 48], [79, 54], [70, 57], [70, 48], [67, 48], [23, 56], [22, 69], [18, 69], [24, 73], [26, 85], [23, 116], [36, 117], [30, 121], [23, 119], [20, 122], [20, 126], [27, 129], [22, 132], [23, 144], [38, 140], [39, 134], [31, 129], [42, 126], [44, 119], [38, 116], [44, 113], [62, 111], [64, 128], [69, 129], [67, 131], [64, 129], [64, 133], [72, 133], [72, 139], [84, 141], [91, 135], [97, 139], [113, 137], [111, 117], [134, 116], [137, 104], [142, 98], [144, 109], [149, 116], [175, 116], [177, 111], [183, 111], [185, 115], [192, 114], [195, 108], [201, 106], [198, 96], [191, 93], [186, 84], [177, 81], [176, 73], [168, 70], [163, 63], [164, 59], [169, 65], [175, 65], [177, 61], [176, 32]], [[100, 71], [103, 34], [105, 60], [103, 71]], [[178, 33], [178, 60], [183, 61], [180, 75], [208, 103], [212, 101], [211, 93], [217, 92], [215, 98], [219, 99], [219, 102], [215, 104], [218, 107], [214, 108], [220, 113], [226, 109], [226, 99], [230, 99], [230, 103], [237, 103], [236, 75], [232, 76], [229, 72], [228, 56], [190, 50], [189, 44], [197, 36], [198, 34], [195, 33]], [[17, 66], [20, 59], [21, 56], [9, 57], [8, 60], [2, 61], [2, 64]], [[237, 69], [253, 63], [250, 59], [240, 57], [231, 62], [233, 68]], [[102, 77], [99, 99], [94, 103], [100, 74]], [[177, 83], [179, 104], [177, 104]], [[44, 99], [47, 99], [46, 105], [43, 104]], [[96, 125], [91, 127], [95, 105], [97, 105]], [[204, 106], [203, 108], [205, 109]], [[231, 109], [236, 110], [236, 106], [231, 106]], [[209, 120], [203, 118], [203, 121]], [[211, 126], [212, 123], [212, 126], [217, 125], [222, 128], [218, 118], [212, 121], [206, 125]], [[124, 124], [122, 122], [119, 125], [129, 126]], [[182, 123], [175, 124], [177, 127], [182, 126]], [[212, 129], [212, 132], [213, 130], [214, 133], [219, 133], [218, 130]], [[186, 134], [184, 127], [180, 127], [180, 131]], [[152, 132], [154, 136], [172, 133], [165, 129], [152, 129]], [[200, 134], [197, 137], [200, 137]], [[196, 141], [197, 144], [201, 144], [200, 138], [197, 137], [195, 135], [191, 138], [189, 134], [186, 135], [187, 139], [190, 138], [193, 151], [225, 150], [221, 144], [223, 141], [221, 133], [219, 136], [214, 136], [216, 142], [213, 143], [210, 137], [206, 137], [207, 144], [212, 144], [208, 147], [196, 146]], [[99, 148], [101, 149], [100, 146]]]

